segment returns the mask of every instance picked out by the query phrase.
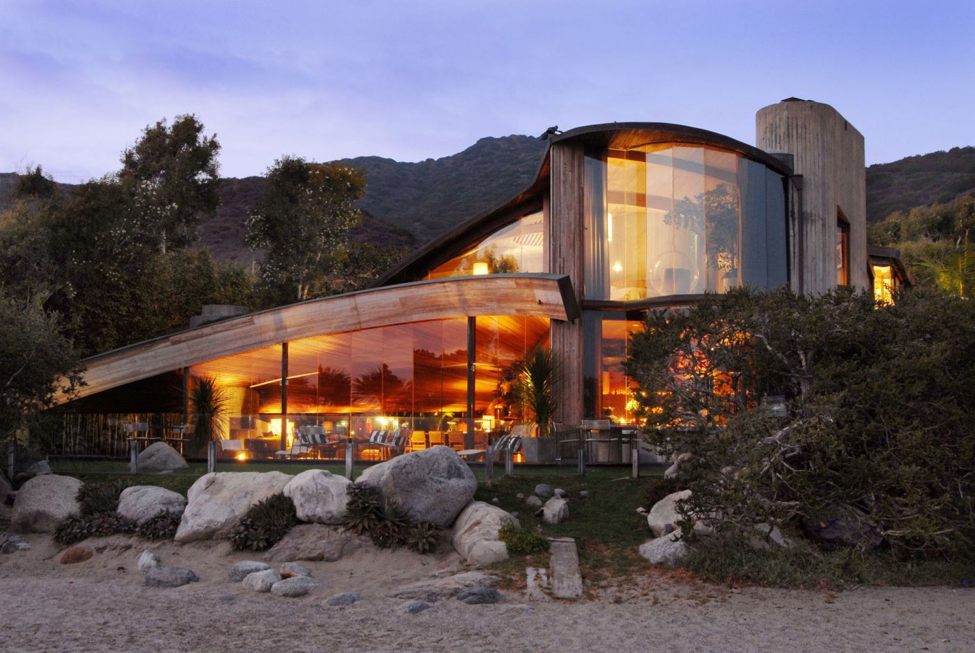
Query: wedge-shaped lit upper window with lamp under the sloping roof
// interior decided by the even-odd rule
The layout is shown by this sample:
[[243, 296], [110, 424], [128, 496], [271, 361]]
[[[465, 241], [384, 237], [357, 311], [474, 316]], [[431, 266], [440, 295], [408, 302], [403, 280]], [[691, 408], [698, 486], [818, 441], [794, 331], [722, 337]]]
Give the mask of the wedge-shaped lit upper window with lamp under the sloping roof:
[[544, 245], [544, 225], [539, 211], [498, 229], [460, 256], [430, 270], [424, 278], [544, 272]]

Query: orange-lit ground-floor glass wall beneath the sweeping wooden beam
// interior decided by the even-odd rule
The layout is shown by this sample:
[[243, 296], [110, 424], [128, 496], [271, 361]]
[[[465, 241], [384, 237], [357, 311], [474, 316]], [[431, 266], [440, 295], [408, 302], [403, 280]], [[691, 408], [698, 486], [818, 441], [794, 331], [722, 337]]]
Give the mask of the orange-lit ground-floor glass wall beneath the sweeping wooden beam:
[[[547, 344], [549, 320], [482, 316], [475, 321], [474, 439], [518, 418], [513, 369], [527, 350]], [[249, 457], [271, 457], [295, 433], [315, 427], [332, 439], [351, 435], [370, 451], [370, 434], [401, 429], [409, 450], [463, 448], [467, 430], [468, 319], [400, 324], [318, 336], [288, 345], [287, 413], [282, 413], [283, 347], [266, 347], [191, 368], [228, 396], [227, 432]], [[318, 455], [338, 455], [322, 447]], [[375, 453], [375, 452], [374, 452]], [[376, 453], [378, 455], [378, 453]]]

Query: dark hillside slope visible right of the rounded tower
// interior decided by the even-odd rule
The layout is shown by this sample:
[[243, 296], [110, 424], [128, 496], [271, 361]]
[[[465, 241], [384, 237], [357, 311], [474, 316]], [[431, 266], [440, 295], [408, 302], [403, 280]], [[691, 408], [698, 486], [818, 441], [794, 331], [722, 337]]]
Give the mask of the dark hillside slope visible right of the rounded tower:
[[867, 220], [975, 192], [975, 147], [909, 156], [867, 168]]

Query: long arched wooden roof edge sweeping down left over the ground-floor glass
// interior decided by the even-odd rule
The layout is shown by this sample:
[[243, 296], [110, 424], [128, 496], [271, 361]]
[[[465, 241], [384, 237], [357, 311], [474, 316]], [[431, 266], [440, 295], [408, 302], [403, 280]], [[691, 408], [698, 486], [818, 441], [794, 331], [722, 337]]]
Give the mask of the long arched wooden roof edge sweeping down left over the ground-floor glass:
[[[235, 353], [302, 338], [470, 315], [575, 319], [566, 275], [492, 274], [416, 281], [272, 308], [86, 358], [80, 398]], [[60, 396], [59, 401], [67, 397]]]

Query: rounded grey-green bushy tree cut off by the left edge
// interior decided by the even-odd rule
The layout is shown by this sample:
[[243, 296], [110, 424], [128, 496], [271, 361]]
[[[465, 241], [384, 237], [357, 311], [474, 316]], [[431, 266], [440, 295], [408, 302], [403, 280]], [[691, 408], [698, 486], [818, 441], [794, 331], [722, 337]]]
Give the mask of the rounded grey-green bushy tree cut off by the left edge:
[[0, 439], [29, 427], [60, 392], [71, 395], [83, 385], [57, 316], [0, 293]]

